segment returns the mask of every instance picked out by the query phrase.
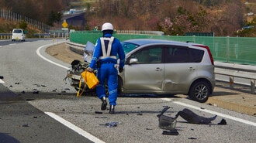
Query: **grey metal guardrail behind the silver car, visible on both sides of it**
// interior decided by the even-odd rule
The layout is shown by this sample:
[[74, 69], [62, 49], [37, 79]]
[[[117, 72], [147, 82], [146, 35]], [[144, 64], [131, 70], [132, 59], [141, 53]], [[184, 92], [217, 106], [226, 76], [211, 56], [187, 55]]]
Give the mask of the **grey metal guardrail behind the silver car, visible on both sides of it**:
[[[66, 41], [66, 45], [78, 54], [83, 55], [85, 45]], [[234, 89], [234, 78], [239, 77], [251, 80], [251, 94], [255, 94], [256, 66], [240, 65], [235, 63], [214, 62], [214, 73], [230, 78], [230, 89]]]

